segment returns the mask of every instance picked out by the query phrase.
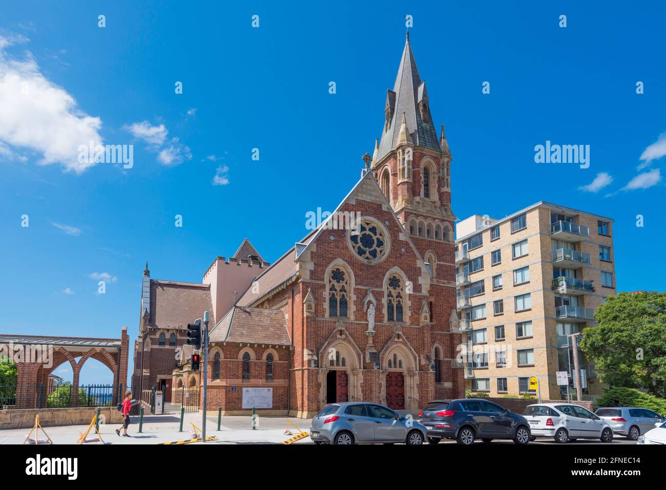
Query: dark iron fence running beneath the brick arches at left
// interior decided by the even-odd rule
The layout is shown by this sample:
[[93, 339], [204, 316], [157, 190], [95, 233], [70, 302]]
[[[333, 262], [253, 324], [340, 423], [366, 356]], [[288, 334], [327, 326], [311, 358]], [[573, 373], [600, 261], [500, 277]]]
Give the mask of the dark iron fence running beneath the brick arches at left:
[[0, 385], [0, 409], [109, 407], [123, 399], [125, 385], [24, 383]]

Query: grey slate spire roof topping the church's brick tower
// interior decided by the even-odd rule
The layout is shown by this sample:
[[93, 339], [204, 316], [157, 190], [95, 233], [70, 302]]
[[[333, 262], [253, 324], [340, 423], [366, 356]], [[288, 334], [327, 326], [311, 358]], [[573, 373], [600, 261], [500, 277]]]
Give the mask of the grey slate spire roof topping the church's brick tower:
[[415, 146], [425, 146], [426, 148], [442, 151], [432, 117], [430, 117], [426, 83], [421, 80], [418, 73], [409, 32], [406, 35], [405, 47], [402, 51], [398, 75], [396, 75], [396, 83], [393, 90], [388, 90], [386, 93], [384, 111], [386, 112], [386, 122], [382, 131], [377, 159], [373, 163], [376, 164], [396, 148], [403, 113], [407, 132]]

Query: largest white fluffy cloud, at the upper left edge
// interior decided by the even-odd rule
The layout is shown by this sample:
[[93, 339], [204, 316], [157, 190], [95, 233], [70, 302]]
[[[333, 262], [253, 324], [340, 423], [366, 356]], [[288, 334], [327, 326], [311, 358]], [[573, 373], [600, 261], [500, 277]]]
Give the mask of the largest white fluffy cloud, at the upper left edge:
[[79, 160], [79, 145], [102, 144], [102, 121], [81, 111], [65, 89], [47, 79], [33, 55], [11, 57], [5, 48], [28, 39], [0, 33], [0, 140], [41, 154], [39, 164], [59, 163], [81, 173], [93, 166]]

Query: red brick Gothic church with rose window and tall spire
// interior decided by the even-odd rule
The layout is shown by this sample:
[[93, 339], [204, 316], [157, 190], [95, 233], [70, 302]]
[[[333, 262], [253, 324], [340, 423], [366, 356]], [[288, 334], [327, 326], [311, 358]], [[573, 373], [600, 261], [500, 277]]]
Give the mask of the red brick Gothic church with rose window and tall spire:
[[155, 385], [178, 401], [183, 385], [201, 384], [183, 344], [186, 324], [208, 310], [210, 411], [258, 403], [260, 413], [310, 417], [355, 400], [416, 411], [463, 394], [451, 153], [409, 37], [384, 113], [360, 180], [274, 263], [244, 240], [201, 284], [153, 280], [146, 268], [135, 389]]

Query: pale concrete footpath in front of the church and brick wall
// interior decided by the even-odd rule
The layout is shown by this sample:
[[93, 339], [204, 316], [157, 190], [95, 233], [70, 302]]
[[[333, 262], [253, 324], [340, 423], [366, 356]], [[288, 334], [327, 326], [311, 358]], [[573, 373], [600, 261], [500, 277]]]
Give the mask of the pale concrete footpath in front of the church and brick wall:
[[[310, 429], [310, 419], [297, 419], [295, 417], [258, 417], [258, 427], [252, 430], [252, 417], [243, 415], [234, 415], [222, 417], [220, 430], [217, 430], [217, 417], [208, 415], [206, 417], [206, 435], [217, 436], [217, 441], [208, 441], [206, 444], [281, 444], [286, 439], [293, 437], [285, 435], [284, 429], [290, 427], [293, 435], [298, 431], [293, 425], [287, 423], [287, 419], [295, 423], [302, 431], [307, 432]], [[131, 417], [131, 423], [127, 433], [131, 437], [118, 437], [115, 429], [119, 425], [106, 425], [100, 423], [99, 432], [105, 444], [158, 444], [164, 442], [178, 441], [180, 439], [190, 439], [190, 431], [194, 422], [197, 427], [201, 427], [201, 413], [185, 413], [182, 432], [178, 432], [180, 427], [180, 414], [165, 415], [145, 415], [143, 417], [143, 431], [139, 433], [139, 417]], [[54, 444], [76, 444], [79, 435], [87, 429], [87, 425], [59, 425], [55, 427], [45, 427], [46, 433], [51, 437]], [[0, 444], [21, 444], [30, 429], [5, 429], [0, 430]], [[122, 430], [121, 430], [122, 434]], [[39, 438], [44, 435], [40, 431]], [[88, 434], [89, 439], [96, 438], [95, 429], [91, 429]], [[296, 441], [294, 444], [312, 443], [310, 437]], [[87, 443], [87, 445], [102, 445], [101, 442]]]

